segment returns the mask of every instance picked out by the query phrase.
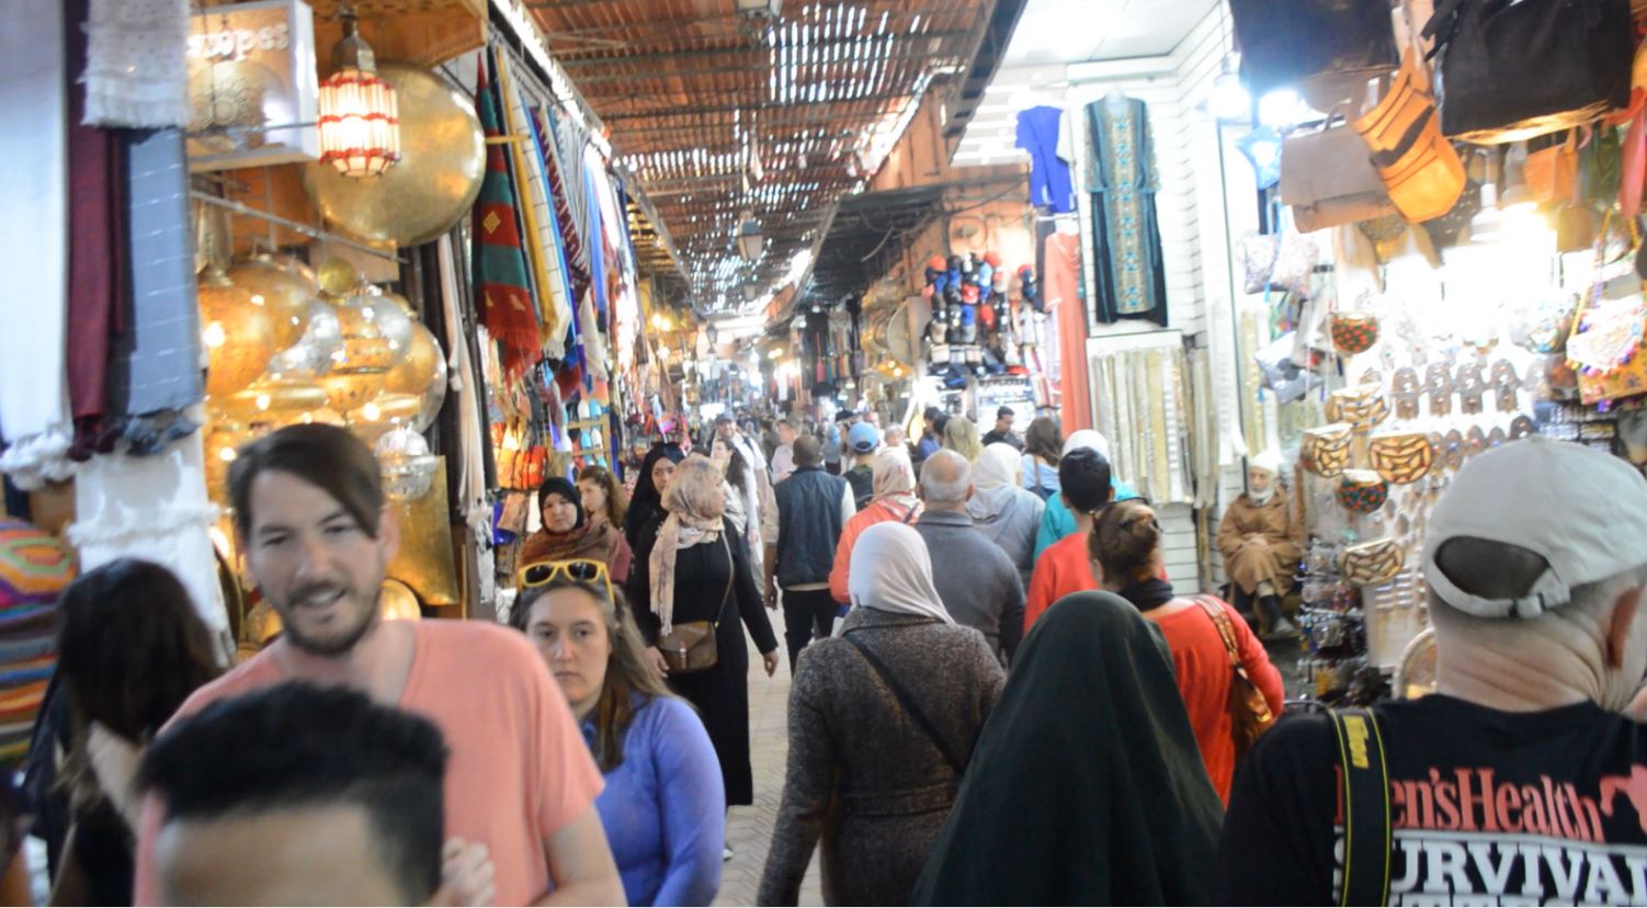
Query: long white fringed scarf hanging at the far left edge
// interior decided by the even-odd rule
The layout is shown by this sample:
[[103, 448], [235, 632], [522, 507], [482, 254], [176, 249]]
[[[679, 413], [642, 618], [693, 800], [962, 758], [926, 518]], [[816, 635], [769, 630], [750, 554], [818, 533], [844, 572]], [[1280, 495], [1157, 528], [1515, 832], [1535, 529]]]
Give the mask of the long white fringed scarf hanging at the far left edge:
[[69, 473], [64, 364], [69, 272], [69, 115], [64, 16], [59, 0], [7, 7], [0, 84], [12, 129], [0, 133], [0, 470], [25, 488]]

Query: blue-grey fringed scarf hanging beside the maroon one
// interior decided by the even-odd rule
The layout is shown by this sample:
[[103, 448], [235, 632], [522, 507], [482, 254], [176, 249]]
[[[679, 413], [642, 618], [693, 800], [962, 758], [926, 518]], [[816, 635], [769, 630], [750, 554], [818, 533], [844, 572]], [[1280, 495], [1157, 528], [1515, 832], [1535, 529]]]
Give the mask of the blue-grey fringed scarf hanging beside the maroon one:
[[196, 424], [180, 410], [204, 397], [189, 178], [183, 132], [125, 132], [132, 310], [117, 320], [109, 414], [130, 453], [153, 453]]

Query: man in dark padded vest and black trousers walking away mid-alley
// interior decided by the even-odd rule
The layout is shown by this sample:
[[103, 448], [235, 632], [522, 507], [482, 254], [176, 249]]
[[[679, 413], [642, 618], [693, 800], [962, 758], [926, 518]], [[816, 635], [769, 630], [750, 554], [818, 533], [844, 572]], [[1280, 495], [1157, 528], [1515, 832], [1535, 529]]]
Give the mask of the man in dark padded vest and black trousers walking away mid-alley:
[[777, 539], [766, 559], [766, 601], [777, 603], [784, 590], [784, 643], [789, 644], [789, 672], [796, 658], [814, 638], [835, 628], [838, 608], [828, 592], [840, 531], [856, 513], [851, 486], [820, 466], [819, 443], [810, 435], [796, 438], [796, 471], [777, 484]]

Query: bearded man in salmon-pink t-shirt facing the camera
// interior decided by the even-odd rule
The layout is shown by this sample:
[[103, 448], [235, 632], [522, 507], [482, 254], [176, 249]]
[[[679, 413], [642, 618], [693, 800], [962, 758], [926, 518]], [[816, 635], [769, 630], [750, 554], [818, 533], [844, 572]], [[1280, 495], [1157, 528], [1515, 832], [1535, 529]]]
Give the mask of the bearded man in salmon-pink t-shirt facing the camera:
[[[595, 796], [601, 775], [565, 697], [520, 634], [489, 623], [382, 621], [377, 593], [400, 529], [372, 452], [328, 425], [247, 445], [229, 473], [240, 550], [283, 633], [203, 687], [178, 715], [282, 681], [343, 684], [423, 715], [451, 748], [448, 875], [461, 898], [499, 905], [623, 905]], [[138, 905], [155, 905], [150, 798], [137, 847]], [[479, 860], [483, 849], [488, 865]], [[226, 867], [224, 873], [236, 868]]]

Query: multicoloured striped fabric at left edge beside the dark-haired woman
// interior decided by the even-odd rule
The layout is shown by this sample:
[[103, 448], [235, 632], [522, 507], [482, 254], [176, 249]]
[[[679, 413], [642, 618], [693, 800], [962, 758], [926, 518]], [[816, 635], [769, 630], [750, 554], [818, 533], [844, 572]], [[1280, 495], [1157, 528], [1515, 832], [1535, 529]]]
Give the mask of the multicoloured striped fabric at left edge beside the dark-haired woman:
[[56, 601], [74, 555], [56, 536], [0, 521], [0, 768], [28, 756], [30, 730], [56, 669]]

